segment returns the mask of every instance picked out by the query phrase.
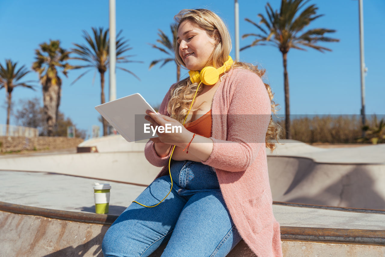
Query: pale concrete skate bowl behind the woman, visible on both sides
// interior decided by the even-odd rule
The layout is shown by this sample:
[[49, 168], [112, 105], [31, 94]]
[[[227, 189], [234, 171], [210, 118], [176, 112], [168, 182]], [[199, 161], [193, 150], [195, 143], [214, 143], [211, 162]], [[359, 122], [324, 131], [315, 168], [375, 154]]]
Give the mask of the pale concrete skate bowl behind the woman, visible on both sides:
[[[45, 171], [149, 185], [161, 168], [144, 157], [145, 141], [121, 136], [84, 141], [98, 153], [0, 158], [1, 170]], [[273, 200], [385, 210], [385, 144], [325, 149], [282, 140], [268, 152]]]

